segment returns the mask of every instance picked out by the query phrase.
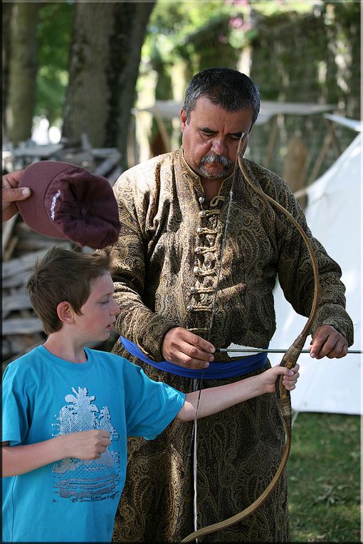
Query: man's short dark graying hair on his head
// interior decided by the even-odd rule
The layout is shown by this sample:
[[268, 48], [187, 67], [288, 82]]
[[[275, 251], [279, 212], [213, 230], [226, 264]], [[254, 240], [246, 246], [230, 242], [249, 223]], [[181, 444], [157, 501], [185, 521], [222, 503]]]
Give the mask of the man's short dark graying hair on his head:
[[256, 83], [248, 75], [231, 68], [207, 68], [191, 78], [186, 86], [183, 104], [187, 123], [196, 100], [201, 96], [228, 112], [252, 110], [252, 125], [260, 112], [260, 92]]

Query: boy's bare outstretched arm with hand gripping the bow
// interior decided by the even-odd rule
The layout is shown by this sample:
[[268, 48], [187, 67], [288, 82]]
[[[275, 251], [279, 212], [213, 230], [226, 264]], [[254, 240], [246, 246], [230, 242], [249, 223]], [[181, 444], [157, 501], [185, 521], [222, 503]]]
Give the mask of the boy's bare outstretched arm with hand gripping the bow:
[[239, 380], [219, 387], [202, 389], [199, 398], [199, 391], [187, 393], [184, 405], [177, 414], [177, 419], [182, 421], [194, 420], [196, 414], [196, 405], [199, 406], [196, 414], [197, 419], [207, 415], [226, 410], [243, 400], [248, 400], [264, 393], [275, 393], [276, 379], [278, 375], [283, 375], [283, 385], [290, 390], [295, 389], [295, 383], [299, 377], [299, 365], [296, 364], [292, 370], [284, 366], [274, 366], [262, 374]]

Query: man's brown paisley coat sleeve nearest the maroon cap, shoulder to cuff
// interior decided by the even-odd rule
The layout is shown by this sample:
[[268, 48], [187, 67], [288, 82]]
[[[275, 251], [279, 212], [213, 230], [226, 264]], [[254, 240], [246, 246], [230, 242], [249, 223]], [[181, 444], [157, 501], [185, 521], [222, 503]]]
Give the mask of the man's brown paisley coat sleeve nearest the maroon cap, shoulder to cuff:
[[[120, 235], [112, 248], [116, 270], [114, 299], [120, 306], [115, 330], [134, 342], [154, 361], [162, 361], [161, 343], [164, 335], [177, 326], [167, 317], [149, 309], [142, 299], [145, 287], [145, 255], [154, 236], [153, 220], [157, 203], [149, 177], [145, 176], [142, 189], [138, 174], [122, 174], [114, 185], [115, 198], [120, 210]], [[142, 194], [140, 194], [142, 193]]]

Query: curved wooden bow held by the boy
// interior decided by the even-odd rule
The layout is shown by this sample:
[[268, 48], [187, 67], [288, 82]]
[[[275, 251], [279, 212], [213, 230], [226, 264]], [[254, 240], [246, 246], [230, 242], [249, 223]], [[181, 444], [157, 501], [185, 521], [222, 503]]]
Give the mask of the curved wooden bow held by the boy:
[[[241, 141], [240, 141], [240, 145], [241, 145]], [[304, 240], [305, 242], [305, 245], [307, 247], [307, 250], [309, 252], [310, 259], [312, 262], [312, 270], [314, 273], [314, 280], [315, 280], [315, 289], [314, 289], [314, 297], [312, 300], [312, 306], [310, 310], [310, 316], [308, 317], [307, 322], [304, 328], [302, 329], [301, 333], [295, 339], [295, 341], [290, 346], [290, 348], [288, 348], [288, 351], [286, 351], [280, 363], [280, 366], [293, 368], [296, 362], [298, 361], [298, 357], [300, 356], [302, 348], [305, 345], [307, 335], [309, 334], [312, 321], [314, 320], [315, 314], [317, 311], [317, 300], [319, 297], [319, 270], [317, 267], [317, 260], [316, 260], [314, 251], [312, 249], [310, 240], [307, 238], [305, 231], [302, 230], [298, 221], [295, 220], [293, 215], [291, 215], [291, 213], [288, 212], [288, 210], [285, 210], [285, 208], [283, 208], [283, 206], [281, 206], [278, 202], [274, 201], [273, 198], [270, 198], [270, 196], [263, 193], [263, 191], [261, 190], [259, 186], [252, 183], [251, 179], [248, 177], [248, 174], [246, 172], [245, 166], [243, 164], [243, 161], [239, 153], [240, 145], [238, 146], [237, 156], [238, 156], [238, 166], [243, 174], [243, 177], [246, 179], [247, 183], [251, 186], [251, 188], [253, 188], [253, 190], [256, 191], [263, 200], [268, 201], [273, 206], [275, 206], [275, 208], [278, 208], [278, 210], [280, 210], [280, 212], [286, 215], [286, 217], [293, 223], [293, 225], [295, 225], [300, 235], [302, 236], [302, 240]], [[250, 514], [253, 511], [255, 511], [256, 508], [258, 508], [265, 502], [266, 498], [268, 498], [268, 496], [275, 489], [275, 486], [278, 484], [280, 476], [283, 474], [285, 466], [288, 462], [288, 457], [289, 457], [290, 449], [291, 449], [291, 399], [290, 399], [290, 391], [286, 390], [285, 386], [283, 385], [282, 376], [278, 376], [278, 380], [276, 383], [276, 396], [277, 396], [278, 408], [280, 410], [281, 416], [283, 417], [283, 421], [285, 425], [285, 449], [283, 451], [283, 457], [280, 461], [280, 465], [278, 466], [275, 476], [273, 476], [273, 479], [270, 481], [270, 484], [268, 484], [265, 491], [263, 491], [263, 494], [261, 494], [261, 496], [259, 496], [256, 499], [256, 501], [254, 501], [250, 506], [245, 508], [243, 511], [237, 513], [235, 516], [231, 516], [231, 518], [227, 518], [226, 520], [219, 521], [218, 523], [213, 523], [209, 526], [195, 530], [193, 533], [190, 533], [188, 536], [183, 538], [181, 542], [191, 542], [192, 540], [195, 540], [196, 538], [199, 538], [204, 535], [209, 535], [210, 533], [214, 533], [214, 531], [216, 530], [227, 528], [229, 526], [234, 525], [235, 523], [238, 523], [238, 521], [241, 521], [244, 518], [247, 518], [247, 516], [250, 516]]]

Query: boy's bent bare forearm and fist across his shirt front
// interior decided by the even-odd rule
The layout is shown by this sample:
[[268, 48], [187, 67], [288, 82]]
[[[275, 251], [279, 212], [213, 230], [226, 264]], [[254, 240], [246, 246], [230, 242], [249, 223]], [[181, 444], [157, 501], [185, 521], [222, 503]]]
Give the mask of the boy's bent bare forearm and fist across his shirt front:
[[2, 476], [26, 474], [67, 457], [97, 459], [110, 443], [107, 430], [72, 432], [25, 446], [9, 446], [9, 442], [3, 442]]

